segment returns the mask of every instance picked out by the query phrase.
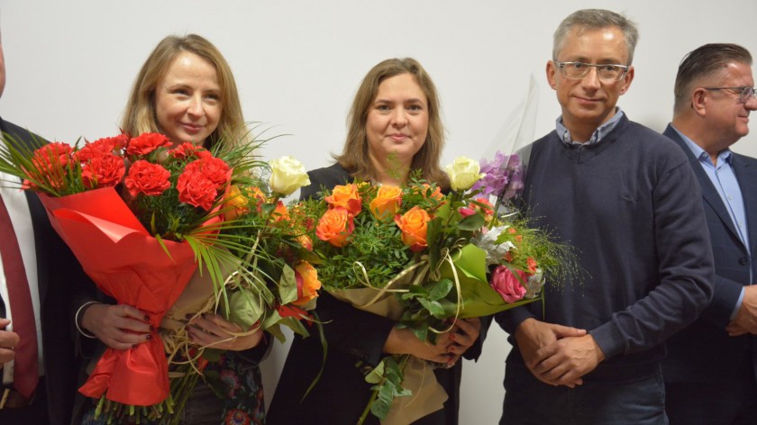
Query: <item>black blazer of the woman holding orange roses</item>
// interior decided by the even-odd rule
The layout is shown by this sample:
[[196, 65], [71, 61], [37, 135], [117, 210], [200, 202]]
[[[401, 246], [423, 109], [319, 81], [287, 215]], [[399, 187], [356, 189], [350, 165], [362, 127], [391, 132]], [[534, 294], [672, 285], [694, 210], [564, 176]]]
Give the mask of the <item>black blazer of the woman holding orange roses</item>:
[[[352, 181], [339, 164], [307, 174], [312, 183], [302, 189], [302, 199], [315, 197], [323, 188], [331, 189]], [[328, 342], [325, 362], [324, 348], [315, 327], [311, 328], [309, 338], [295, 336], [269, 408], [268, 423], [351, 425], [369, 402], [371, 391], [365, 374], [384, 357], [384, 342], [396, 322], [363, 312], [324, 292], [318, 297], [315, 311], [324, 323], [324, 339]], [[479, 356], [488, 323], [483, 321], [479, 342], [468, 350], [466, 358]], [[323, 375], [305, 396], [322, 366]], [[451, 369], [434, 370], [450, 398], [444, 403], [444, 409], [416, 420], [415, 424], [458, 423], [461, 370], [461, 362]], [[379, 420], [369, 414], [366, 423], [378, 424]]]

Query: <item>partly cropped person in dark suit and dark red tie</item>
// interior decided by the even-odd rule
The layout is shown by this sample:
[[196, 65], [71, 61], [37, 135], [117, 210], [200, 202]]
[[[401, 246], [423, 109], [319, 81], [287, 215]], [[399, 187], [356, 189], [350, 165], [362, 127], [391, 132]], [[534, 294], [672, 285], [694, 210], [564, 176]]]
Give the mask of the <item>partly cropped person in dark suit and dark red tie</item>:
[[[0, 41], [0, 95], [4, 88], [5, 59]], [[5, 136], [10, 136], [30, 147], [44, 143], [39, 136], [2, 118], [0, 131], [4, 140]], [[68, 425], [78, 369], [78, 360], [74, 356], [76, 330], [70, 326], [74, 315], [74, 303], [70, 294], [86, 292], [92, 283], [79, 267], [70, 249], [50, 226], [47, 212], [37, 194], [31, 191], [22, 193], [17, 186], [6, 186], [0, 189], [0, 196], [14, 222], [14, 232], [22, 254], [36, 254], [32, 254], [32, 258], [24, 256], [23, 262], [32, 299], [39, 302], [36, 303], [39, 308], [35, 309], [35, 323], [38, 335], [41, 334], [41, 364], [38, 366], [40, 380], [31, 397], [24, 397], [16, 391], [14, 384], [5, 384], [0, 388], [0, 396], [5, 397], [5, 402], [0, 401], [0, 404], [4, 404], [0, 409], [0, 423]], [[8, 241], [3, 240], [1, 243], [7, 244]], [[36, 267], [33, 266], [34, 262]], [[2, 285], [7, 285], [5, 279], [3, 282]], [[19, 336], [16, 332], [7, 330], [15, 315], [11, 311], [11, 317], [6, 316], [8, 302], [5, 298], [0, 300], [0, 372], [3, 372], [10, 360], [19, 360], [13, 349], [21, 342]]]

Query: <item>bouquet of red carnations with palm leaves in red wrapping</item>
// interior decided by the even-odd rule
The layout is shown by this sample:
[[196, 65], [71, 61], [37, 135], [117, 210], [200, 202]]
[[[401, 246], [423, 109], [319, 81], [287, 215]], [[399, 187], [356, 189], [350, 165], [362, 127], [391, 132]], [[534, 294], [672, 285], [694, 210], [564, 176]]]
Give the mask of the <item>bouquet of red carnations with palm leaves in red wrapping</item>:
[[[247, 267], [233, 250], [248, 240], [230, 238], [227, 231], [241, 224], [224, 215], [232, 208], [226, 205], [231, 185], [259, 184], [256, 168], [267, 167], [251, 155], [259, 143], [174, 147], [159, 133], [122, 134], [83, 146], [5, 141], [0, 170], [39, 194], [50, 223], [87, 275], [118, 303], [145, 312], [153, 329], [146, 343], [109, 348], [79, 391], [100, 398], [100, 406], [132, 406], [125, 414], [133, 414], [133, 406], [154, 405], [173, 412], [158, 330], [198, 268], [217, 297], [233, 269]], [[154, 418], [161, 412], [137, 409], [141, 413]]]

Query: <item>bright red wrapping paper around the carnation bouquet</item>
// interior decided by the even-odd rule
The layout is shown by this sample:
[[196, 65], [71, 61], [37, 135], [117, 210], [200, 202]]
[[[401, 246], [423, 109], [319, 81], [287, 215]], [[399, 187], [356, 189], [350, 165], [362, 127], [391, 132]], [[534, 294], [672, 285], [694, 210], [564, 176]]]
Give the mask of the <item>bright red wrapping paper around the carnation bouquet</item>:
[[[84, 271], [119, 304], [132, 305], [158, 330], [196, 269], [186, 242], [150, 236], [113, 187], [50, 197], [40, 194], [52, 227]], [[169, 396], [168, 362], [157, 331], [126, 350], [108, 348], [79, 392], [123, 404], [149, 406]]]

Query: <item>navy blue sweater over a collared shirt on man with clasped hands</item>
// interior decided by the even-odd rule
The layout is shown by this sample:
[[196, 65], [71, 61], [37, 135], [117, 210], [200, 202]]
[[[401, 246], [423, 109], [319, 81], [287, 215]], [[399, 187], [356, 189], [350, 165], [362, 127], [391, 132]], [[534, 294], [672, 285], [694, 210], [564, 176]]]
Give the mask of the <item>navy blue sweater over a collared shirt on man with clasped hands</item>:
[[[713, 293], [701, 195], [681, 149], [625, 116], [581, 148], [552, 131], [532, 146], [524, 202], [534, 224], [578, 250], [582, 281], [548, 282], [544, 309], [531, 303], [497, 321], [511, 335], [529, 317], [588, 330], [607, 360], [587, 379], [658, 370], [664, 340]], [[523, 361], [517, 347], [511, 360]]]

